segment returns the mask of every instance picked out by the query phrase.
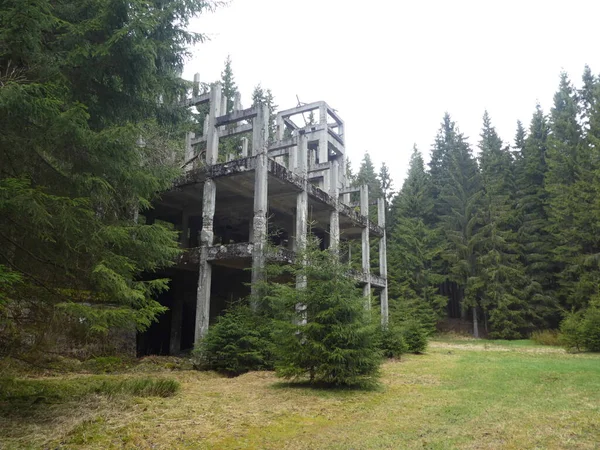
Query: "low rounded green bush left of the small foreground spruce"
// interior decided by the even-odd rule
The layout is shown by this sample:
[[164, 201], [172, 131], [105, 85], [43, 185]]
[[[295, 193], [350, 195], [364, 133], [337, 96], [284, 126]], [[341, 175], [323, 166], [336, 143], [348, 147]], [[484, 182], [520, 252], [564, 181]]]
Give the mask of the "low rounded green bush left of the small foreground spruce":
[[194, 364], [237, 376], [273, 369], [269, 321], [247, 306], [236, 306], [219, 317], [193, 352]]

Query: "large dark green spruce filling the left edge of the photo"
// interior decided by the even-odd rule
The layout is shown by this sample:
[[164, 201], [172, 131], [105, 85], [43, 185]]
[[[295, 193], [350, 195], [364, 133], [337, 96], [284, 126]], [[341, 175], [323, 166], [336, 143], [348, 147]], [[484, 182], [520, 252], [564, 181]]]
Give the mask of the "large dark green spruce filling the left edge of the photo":
[[43, 346], [66, 322], [144, 329], [165, 310], [153, 274], [177, 235], [142, 215], [179, 173], [191, 120], [178, 74], [202, 40], [186, 27], [210, 3], [163, 3], [0, 10], [0, 265], [20, 280], [0, 286], [3, 350]]

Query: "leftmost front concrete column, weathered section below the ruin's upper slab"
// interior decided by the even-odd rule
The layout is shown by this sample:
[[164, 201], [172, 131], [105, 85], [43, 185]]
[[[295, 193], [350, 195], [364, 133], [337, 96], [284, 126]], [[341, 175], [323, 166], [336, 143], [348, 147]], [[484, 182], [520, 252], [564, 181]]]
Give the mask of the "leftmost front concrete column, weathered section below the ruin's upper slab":
[[212, 265], [208, 262], [208, 248], [213, 245], [213, 219], [215, 216], [215, 200], [217, 187], [211, 178], [204, 182], [202, 205], [202, 231], [200, 231], [200, 270], [198, 276], [198, 292], [196, 296], [196, 344], [208, 331], [210, 318], [210, 287], [212, 281]]

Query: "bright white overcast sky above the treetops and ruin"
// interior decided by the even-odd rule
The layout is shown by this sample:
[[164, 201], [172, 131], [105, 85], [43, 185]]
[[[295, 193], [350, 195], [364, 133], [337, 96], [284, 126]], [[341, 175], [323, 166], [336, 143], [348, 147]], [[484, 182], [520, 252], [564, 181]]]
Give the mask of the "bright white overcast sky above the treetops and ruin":
[[281, 109], [325, 100], [346, 121], [356, 169], [365, 151], [399, 189], [412, 146], [429, 159], [445, 111], [473, 146], [483, 112], [505, 141], [552, 106], [561, 70], [600, 72], [595, 1], [232, 0], [192, 21], [210, 37], [184, 76], [220, 77], [231, 55], [245, 106], [270, 88]]

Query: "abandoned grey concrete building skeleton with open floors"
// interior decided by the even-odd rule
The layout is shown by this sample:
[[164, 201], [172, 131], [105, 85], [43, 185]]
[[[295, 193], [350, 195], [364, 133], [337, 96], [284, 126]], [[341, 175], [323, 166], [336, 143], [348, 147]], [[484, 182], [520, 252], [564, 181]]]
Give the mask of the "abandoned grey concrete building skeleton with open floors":
[[[185, 174], [147, 220], [173, 223], [185, 252], [165, 273], [171, 287], [160, 301], [169, 311], [138, 335], [138, 354], [192, 348], [230, 302], [250, 294], [268, 258], [294, 258], [306, 244], [309, 222], [322, 248], [361, 242], [362, 270], [349, 270], [349, 276], [365, 297], [378, 294], [387, 323], [385, 204], [369, 201], [367, 186], [349, 184], [344, 121], [324, 101], [275, 118], [263, 105], [243, 109], [239, 96], [227, 113], [227, 101], [219, 84], [201, 93], [198, 75], [184, 100], [206, 112], [203, 132], [188, 135]], [[307, 123], [306, 114], [315, 120]], [[237, 151], [219, 154], [219, 141], [234, 136]], [[376, 221], [369, 219], [373, 204]], [[372, 239], [379, 240], [379, 270], [371, 267]]]

